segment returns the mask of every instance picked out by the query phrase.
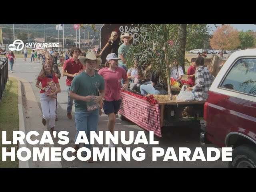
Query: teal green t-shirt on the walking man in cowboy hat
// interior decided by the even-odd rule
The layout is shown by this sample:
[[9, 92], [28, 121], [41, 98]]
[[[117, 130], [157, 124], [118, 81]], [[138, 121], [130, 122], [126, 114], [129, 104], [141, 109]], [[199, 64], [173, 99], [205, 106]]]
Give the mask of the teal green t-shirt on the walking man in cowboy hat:
[[[93, 77], [93, 76], [92, 76]], [[85, 72], [76, 75], [72, 81], [70, 90], [80, 96], [98, 96], [98, 90], [105, 89], [105, 82], [102, 76], [95, 73], [92, 78]], [[87, 111], [87, 102], [75, 100], [75, 111]]]

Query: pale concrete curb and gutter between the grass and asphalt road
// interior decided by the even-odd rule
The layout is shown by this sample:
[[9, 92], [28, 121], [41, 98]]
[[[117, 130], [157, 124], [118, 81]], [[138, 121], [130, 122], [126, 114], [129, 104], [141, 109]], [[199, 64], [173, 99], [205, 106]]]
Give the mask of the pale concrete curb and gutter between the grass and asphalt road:
[[[33, 140], [38, 139], [40, 141], [43, 132], [47, 131], [47, 127], [42, 125], [42, 112], [38, 106], [32, 87], [30, 83], [23, 78], [13, 75], [9, 75], [9, 77], [16, 78], [18, 81], [19, 129], [20, 131], [23, 131], [25, 135], [29, 131], [37, 131], [40, 135], [33, 136]], [[26, 100], [24, 98], [26, 98]], [[27, 147], [31, 152], [33, 147], [38, 147], [40, 151], [42, 151], [42, 148], [48, 147], [49, 156], [51, 156], [51, 147], [54, 147], [54, 145], [50, 144], [35, 144], [32, 146], [31, 144], [28, 144], [26, 140], [24, 140], [24, 143], [24, 145], [19, 145], [19, 148]], [[44, 159], [41, 161], [39, 159], [34, 161], [31, 156], [30, 160], [26, 162], [19, 161], [19, 168], [62, 168], [62, 165], [60, 161], [45, 161]]]

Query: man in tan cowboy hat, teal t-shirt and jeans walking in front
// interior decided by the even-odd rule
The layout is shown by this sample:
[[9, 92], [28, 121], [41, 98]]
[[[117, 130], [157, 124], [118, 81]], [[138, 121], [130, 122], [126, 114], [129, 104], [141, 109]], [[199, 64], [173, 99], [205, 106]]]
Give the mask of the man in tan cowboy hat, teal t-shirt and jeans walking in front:
[[[90, 52], [86, 57], [80, 57], [80, 62], [86, 66], [86, 70], [76, 75], [72, 81], [69, 96], [75, 100], [75, 120], [76, 120], [76, 138], [79, 131], [85, 131], [90, 143], [90, 132], [97, 132], [99, 120], [98, 103], [105, 96], [105, 82], [102, 76], [94, 70], [97, 64], [101, 64], [101, 58], [96, 58], [94, 52]], [[98, 96], [98, 92], [100, 95]], [[84, 145], [91, 150], [91, 144]], [[74, 145], [76, 154], [79, 144]], [[87, 153], [84, 152], [84, 156]], [[93, 162], [92, 156], [87, 162]]]

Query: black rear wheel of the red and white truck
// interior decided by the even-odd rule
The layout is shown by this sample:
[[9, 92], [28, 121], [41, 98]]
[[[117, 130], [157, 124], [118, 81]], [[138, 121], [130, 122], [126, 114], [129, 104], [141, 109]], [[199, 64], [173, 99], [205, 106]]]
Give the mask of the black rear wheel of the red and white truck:
[[256, 149], [252, 145], [241, 145], [232, 152], [229, 168], [256, 168]]

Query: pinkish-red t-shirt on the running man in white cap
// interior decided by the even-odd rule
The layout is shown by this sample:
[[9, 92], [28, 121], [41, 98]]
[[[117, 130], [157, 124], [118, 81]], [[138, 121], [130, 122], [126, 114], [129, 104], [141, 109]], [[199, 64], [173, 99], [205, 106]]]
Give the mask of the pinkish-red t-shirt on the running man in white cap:
[[105, 81], [105, 100], [117, 101], [120, 99], [121, 80], [128, 79], [126, 71], [123, 68], [117, 67], [115, 71], [108, 70], [107, 67], [102, 68], [98, 72]]

